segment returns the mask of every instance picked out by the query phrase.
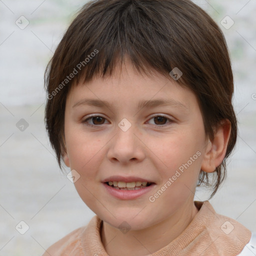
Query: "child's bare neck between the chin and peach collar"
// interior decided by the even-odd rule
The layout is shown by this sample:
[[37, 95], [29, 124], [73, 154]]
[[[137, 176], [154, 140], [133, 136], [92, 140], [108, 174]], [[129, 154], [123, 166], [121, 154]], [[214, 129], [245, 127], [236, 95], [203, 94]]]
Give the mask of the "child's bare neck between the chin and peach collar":
[[198, 212], [193, 201], [186, 202], [171, 216], [142, 230], [122, 233], [103, 221], [101, 241], [109, 256], [144, 256], [163, 248], [179, 236]]

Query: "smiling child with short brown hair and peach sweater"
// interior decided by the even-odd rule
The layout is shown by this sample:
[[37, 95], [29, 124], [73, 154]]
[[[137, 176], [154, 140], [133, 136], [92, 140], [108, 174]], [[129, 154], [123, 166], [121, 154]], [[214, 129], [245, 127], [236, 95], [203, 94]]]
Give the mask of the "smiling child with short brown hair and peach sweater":
[[89, 2], [49, 62], [45, 86], [58, 163], [96, 215], [43, 256], [244, 253], [251, 232], [193, 201], [200, 184], [217, 191], [237, 132], [225, 39], [201, 8]]

